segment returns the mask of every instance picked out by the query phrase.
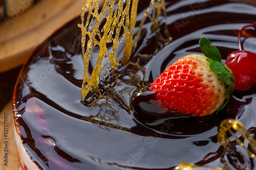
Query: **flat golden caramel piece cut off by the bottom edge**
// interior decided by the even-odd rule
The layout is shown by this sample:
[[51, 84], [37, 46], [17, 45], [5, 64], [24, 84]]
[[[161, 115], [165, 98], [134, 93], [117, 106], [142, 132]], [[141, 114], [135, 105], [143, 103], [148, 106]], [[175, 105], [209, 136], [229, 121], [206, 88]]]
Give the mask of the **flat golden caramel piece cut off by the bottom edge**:
[[220, 167], [211, 167], [211, 166], [198, 166], [191, 163], [182, 162], [174, 168], [174, 170], [224, 170]]

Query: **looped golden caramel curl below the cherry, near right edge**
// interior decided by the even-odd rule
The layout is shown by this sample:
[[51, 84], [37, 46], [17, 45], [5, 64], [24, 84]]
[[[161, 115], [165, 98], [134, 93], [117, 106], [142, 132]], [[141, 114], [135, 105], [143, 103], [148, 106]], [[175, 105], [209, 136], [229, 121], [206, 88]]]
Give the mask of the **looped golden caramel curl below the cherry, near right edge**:
[[[240, 133], [241, 137], [247, 140], [248, 144], [251, 145], [252, 151], [248, 150], [244, 142], [234, 134], [231, 128], [238, 133]], [[249, 132], [245, 129], [243, 124], [236, 119], [225, 119], [222, 121], [219, 132], [218, 132], [218, 141], [221, 145], [225, 148], [226, 151], [233, 153], [232, 146], [230, 140], [227, 138], [226, 133], [229, 132], [234, 139], [236, 140], [237, 144], [239, 144], [245, 151], [247, 151], [250, 158], [256, 158], [256, 140], [250, 136]]]

